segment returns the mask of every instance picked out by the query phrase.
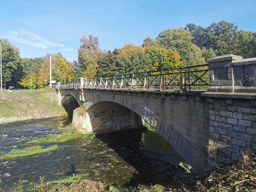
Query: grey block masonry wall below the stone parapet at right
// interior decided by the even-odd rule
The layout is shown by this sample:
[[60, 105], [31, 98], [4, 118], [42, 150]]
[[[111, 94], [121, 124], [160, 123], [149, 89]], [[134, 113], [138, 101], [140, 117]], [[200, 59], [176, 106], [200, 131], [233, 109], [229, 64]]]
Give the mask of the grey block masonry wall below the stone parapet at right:
[[256, 100], [207, 98], [209, 160], [222, 166], [241, 151], [256, 151]]

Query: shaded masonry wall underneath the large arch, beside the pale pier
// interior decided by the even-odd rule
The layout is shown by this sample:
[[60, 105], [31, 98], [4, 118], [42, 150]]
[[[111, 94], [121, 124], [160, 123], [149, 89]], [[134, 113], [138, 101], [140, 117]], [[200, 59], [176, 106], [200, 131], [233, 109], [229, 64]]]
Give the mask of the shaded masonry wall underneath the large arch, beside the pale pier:
[[88, 111], [88, 114], [93, 132], [96, 133], [111, 133], [143, 125], [142, 118], [129, 109]]

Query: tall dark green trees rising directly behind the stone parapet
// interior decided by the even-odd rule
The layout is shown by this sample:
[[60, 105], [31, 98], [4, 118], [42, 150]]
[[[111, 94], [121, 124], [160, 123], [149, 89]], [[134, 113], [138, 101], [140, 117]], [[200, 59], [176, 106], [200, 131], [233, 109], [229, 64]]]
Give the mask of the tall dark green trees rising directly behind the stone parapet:
[[[243, 58], [256, 56], [256, 33], [238, 31], [234, 23], [221, 21], [203, 28], [194, 23], [187, 24], [185, 29], [191, 32], [192, 42], [201, 49], [212, 49], [217, 56], [236, 54]], [[206, 60], [209, 58], [205, 57]]]

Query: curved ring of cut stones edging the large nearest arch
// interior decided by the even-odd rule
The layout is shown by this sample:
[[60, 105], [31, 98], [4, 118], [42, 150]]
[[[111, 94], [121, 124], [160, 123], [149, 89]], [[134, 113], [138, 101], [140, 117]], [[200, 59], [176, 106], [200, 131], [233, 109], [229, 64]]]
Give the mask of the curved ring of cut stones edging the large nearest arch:
[[113, 95], [105, 93], [98, 94], [90, 98], [89, 101], [84, 103], [84, 106], [88, 110], [91, 106], [99, 102], [115, 102], [124, 107], [130, 109], [131, 111], [138, 114], [146, 122], [151, 124], [161, 136], [177, 151], [178, 154], [195, 170], [202, 170], [207, 163], [207, 159], [204, 152], [199, 151], [194, 144], [192, 144], [188, 139], [186, 139], [178, 130], [173, 126], [168, 125], [166, 121], [157, 115], [154, 111], [144, 105], [129, 99], [128, 97], [122, 95]]

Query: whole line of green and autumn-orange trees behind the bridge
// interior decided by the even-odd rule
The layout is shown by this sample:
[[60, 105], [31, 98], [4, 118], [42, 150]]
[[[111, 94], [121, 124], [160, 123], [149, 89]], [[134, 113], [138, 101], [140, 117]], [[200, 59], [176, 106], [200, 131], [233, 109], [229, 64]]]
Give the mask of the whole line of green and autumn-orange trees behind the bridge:
[[[2, 39], [3, 84], [42, 88], [49, 84], [50, 54], [38, 58], [20, 58], [20, 50]], [[67, 82], [78, 77], [155, 71], [205, 64], [208, 59], [225, 54], [243, 58], [256, 57], [256, 32], [238, 30], [234, 23], [221, 21], [203, 28], [194, 23], [184, 28], [166, 29], [156, 38], [147, 37], [141, 46], [127, 43], [122, 48], [101, 50], [97, 37], [80, 39], [78, 61], [69, 62], [61, 53], [52, 56], [52, 80]]]

